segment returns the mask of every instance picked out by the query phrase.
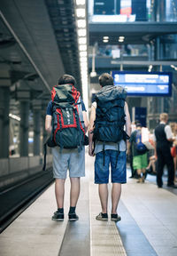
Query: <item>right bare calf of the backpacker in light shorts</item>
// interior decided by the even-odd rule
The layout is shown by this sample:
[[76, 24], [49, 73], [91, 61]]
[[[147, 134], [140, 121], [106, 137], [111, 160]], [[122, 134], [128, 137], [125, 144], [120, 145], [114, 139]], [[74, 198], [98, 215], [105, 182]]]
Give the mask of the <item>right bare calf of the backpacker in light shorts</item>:
[[70, 178], [70, 206], [75, 207], [80, 196], [80, 178]]

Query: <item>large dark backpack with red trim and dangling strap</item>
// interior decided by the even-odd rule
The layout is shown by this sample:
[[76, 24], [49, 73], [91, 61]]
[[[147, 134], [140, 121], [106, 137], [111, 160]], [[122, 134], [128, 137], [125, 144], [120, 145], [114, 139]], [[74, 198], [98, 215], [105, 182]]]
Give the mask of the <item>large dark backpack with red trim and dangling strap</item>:
[[[84, 145], [85, 130], [81, 109], [81, 96], [73, 84], [56, 85], [51, 91], [52, 100], [52, 132], [49, 140], [44, 144], [53, 148], [78, 148]], [[43, 170], [46, 158], [44, 156]]]

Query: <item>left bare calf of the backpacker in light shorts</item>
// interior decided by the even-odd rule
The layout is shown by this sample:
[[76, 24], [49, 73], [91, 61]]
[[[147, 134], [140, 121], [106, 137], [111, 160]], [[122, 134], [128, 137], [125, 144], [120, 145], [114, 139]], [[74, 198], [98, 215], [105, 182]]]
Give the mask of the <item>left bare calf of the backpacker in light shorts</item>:
[[56, 195], [58, 208], [64, 208], [65, 180], [56, 179], [55, 195]]

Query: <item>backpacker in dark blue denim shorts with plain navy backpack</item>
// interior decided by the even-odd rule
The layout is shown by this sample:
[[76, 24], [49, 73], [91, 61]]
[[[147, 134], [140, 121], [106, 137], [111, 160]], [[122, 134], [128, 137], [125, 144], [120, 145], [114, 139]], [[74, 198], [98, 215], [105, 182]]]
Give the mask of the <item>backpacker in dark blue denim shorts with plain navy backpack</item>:
[[[101, 89], [91, 107], [89, 125], [89, 156], [95, 156], [95, 183], [98, 184], [102, 212], [96, 220], [108, 220], [109, 166], [112, 169], [111, 220], [119, 221], [117, 213], [121, 184], [127, 182], [127, 139], [131, 121], [125, 102], [127, 92], [114, 86], [110, 74], [99, 76]], [[125, 130], [124, 130], [125, 128]], [[94, 147], [95, 145], [95, 147]]]

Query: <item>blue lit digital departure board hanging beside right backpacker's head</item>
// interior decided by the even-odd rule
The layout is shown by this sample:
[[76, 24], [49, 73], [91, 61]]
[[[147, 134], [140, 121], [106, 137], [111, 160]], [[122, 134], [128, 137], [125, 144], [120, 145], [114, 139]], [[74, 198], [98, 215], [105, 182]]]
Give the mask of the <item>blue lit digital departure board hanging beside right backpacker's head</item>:
[[172, 73], [133, 73], [112, 71], [115, 85], [127, 89], [129, 96], [172, 96]]

